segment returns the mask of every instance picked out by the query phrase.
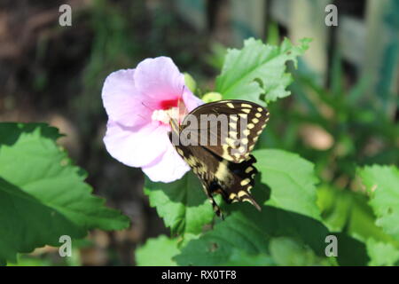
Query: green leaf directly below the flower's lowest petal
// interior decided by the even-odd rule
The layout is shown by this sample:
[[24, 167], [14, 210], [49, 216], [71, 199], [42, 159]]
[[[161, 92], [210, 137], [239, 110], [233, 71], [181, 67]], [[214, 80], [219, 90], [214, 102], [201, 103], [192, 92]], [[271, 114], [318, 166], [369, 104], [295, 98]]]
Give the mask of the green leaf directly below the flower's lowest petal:
[[215, 216], [200, 180], [192, 171], [183, 178], [169, 184], [153, 183], [145, 179], [145, 194], [150, 205], [157, 209], [158, 215], [170, 227], [173, 235], [183, 233], [201, 233], [204, 225]]

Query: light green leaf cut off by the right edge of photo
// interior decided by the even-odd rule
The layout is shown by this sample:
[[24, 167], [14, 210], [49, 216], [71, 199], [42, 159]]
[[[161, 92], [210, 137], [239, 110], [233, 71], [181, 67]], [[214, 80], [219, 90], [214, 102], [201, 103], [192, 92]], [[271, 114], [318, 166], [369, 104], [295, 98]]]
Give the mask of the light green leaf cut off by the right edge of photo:
[[399, 170], [395, 166], [373, 165], [358, 169], [358, 174], [371, 196], [376, 225], [399, 241]]

